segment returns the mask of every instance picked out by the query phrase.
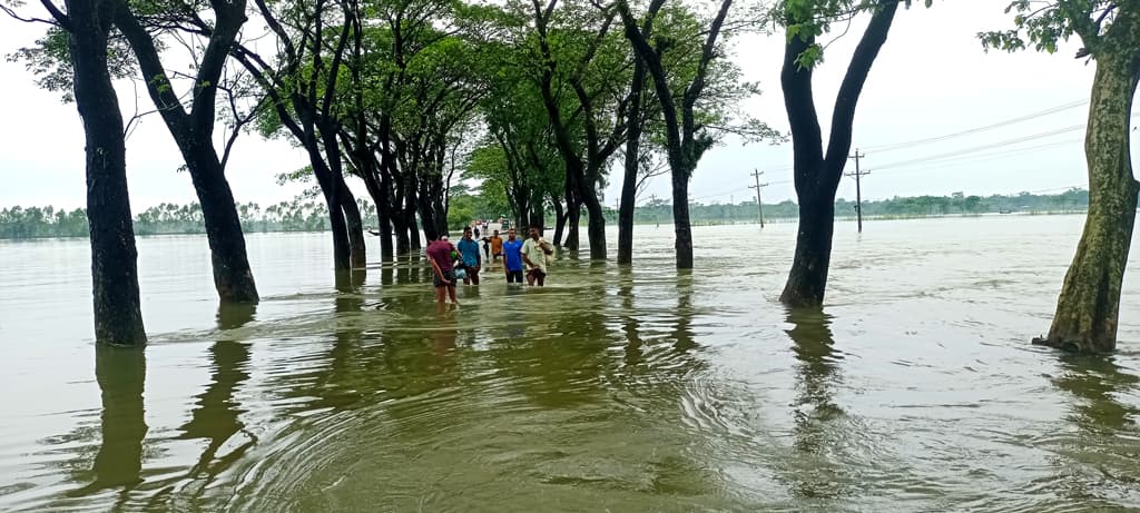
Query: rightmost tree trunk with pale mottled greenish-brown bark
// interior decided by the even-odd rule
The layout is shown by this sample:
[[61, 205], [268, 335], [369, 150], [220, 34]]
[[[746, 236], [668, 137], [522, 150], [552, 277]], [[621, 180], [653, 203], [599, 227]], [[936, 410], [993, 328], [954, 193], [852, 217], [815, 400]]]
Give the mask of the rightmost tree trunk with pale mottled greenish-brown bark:
[[[1126, 23], [1123, 18], [1117, 24]], [[1113, 28], [1124, 28], [1114, 26]], [[1116, 349], [1121, 283], [1127, 264], [1140, 184], [1129, 150], [1132, 98], [1140, 59], [1098, 55], [1084, 152], [1089, 213], [1065, 276], [1047, 339], [1035, 343], [1077, 352]]]

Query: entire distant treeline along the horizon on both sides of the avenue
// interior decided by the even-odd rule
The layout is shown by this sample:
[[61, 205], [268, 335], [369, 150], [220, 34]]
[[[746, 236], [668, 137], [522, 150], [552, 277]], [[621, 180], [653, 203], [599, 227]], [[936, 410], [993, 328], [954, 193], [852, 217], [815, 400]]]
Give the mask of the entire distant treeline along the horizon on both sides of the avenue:
[[[449, 225], [457, 228], [467, 219], [478, 217], [479, 206], [467, 206], [464, 195], [454, 197]], [[471, 196], [478, 199], [478, 196]], [[463, 206], [461, 206], [463, 205]], [[894, 197], [890, 199], [863, 202], [864, 217], [922, 217], [980, 214], [990, 212], [1058, 212], [1084, 211], [1089, 206], [1089, 192], [1069, 189], [1061, 194], [1036, 195], [1021, 193], [1012, 196], [966, 196], [955, 193], [950, 196], [913, 196]], [[262, 209], [255, 203], [238, 204], [242, 228], [246, 233], [258, 231], [321, 231], [328, 229], [328, 214], [325, 203], [316, 198], [299, 197], [291, 202], [282, 202]], [[765, 219], [795, 219], [798, 206], [791, 201], [775, 204], [764, 204]], [[469, 212], [470, 210], [470, 212]], [[461, 213], [462, 212], [462, 213]], [[718, 223], [726, 221], [754, 221], [759, 218], [756, 202], [736, 204], [702, 204], [691, 205], [694, 223]], [[360, 202], [360, 213], [365, 226], [376, 226], [376, 210], [367, 202]], [[836, 201], [837, 217], [855, 215], [855, 202]], [[497, 217], [487, 212], [484, 218]], [[617, 211], [608, 210], [610, 222], [617, 222]], [[663, 199], [653, 199], [638, 206], [635, 221], [653, 223], [671, 221], [673, 210]], [[160, 234], [202, 234], [205, 233], [202, 221], [202, 209], [197, 203], [177, 205], [163, 203], [152, 206], [135, 217], [135, 233], [138, 235]], [[85, 237], [88, 235], [87, 214], [83, 209], [72, 211], [46, 207], [0, 209], [0, 238], [35, 238], [35, 237]]]

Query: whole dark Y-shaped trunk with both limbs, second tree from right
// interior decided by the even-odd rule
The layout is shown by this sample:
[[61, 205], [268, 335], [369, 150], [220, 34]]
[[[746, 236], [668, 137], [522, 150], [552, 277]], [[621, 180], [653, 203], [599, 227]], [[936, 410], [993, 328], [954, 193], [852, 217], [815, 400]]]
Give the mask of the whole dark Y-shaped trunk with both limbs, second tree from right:
[[800, 54], [815, 40], [793, 35], [788, 38], [784, 47], [780, 85], [791, 127], [796, 196], [799, 199], [796, 256], [780, 294], [780, 301], [790, 307], [823, 303], [831, 261], [836, 189], [850, 152], [855, 107], [871, 65], [887, 42], [898, 3], [896, 0], [878, 2], [855, 48], [836, 98], [826, 153], [812, 91], [812, 67], [800, 66], [799, 63]]

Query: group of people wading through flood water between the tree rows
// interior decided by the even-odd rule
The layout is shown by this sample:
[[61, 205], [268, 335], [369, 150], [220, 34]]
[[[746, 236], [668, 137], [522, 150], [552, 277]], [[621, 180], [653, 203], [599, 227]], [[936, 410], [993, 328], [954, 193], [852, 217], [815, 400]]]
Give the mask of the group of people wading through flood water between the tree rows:
[[[465, 285], [479, 285], [479, 272], [483, 263], [497, 263], [503, 260], [503, 272], [506, 283], [522, 285], [523, 277], [528, 286], [546, 285], [546, 275], [553, 261], [554, 246], [542, 237], [542, 229], [530, 227], [526, 241], [518, 238], [514, 228], [507, 231], [506, 241], [498, 230], [483, 239], [483, 252], [479, 251], [472, 228], [463, 228], [463, 238], [458, 244], [451, 244], [447, 235], [427, 243], [427, 261], [432, 268], [432, 285], [435, 287], [435, 301], [458, 304], [455, 296], [459, 280]], [[483, 254], [487, 258], [483, 258]]]

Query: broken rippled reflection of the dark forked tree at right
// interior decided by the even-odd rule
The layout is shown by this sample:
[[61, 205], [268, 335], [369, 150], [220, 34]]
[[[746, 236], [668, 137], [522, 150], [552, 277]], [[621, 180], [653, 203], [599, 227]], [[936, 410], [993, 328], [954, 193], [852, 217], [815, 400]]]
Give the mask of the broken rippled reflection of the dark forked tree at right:
[[846, 487], [836, 479], [837, 469], [828, 461], [829, 446], [840, 430], [832, 423], [844, 415], [833, 398], [841, 356], [833, 348], [831, 316], [821, 308], [798, 308], [789, 310], [787, 320], [792, 325], [787, 333], [799, 360], [792, 448], [804, 453], [797, 459], [813, 465], [812, 472], [791, 472], [792, 492], [811, 498], [840, 497], [847, 494]]

